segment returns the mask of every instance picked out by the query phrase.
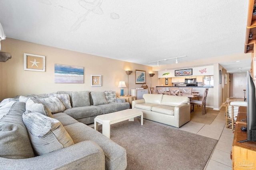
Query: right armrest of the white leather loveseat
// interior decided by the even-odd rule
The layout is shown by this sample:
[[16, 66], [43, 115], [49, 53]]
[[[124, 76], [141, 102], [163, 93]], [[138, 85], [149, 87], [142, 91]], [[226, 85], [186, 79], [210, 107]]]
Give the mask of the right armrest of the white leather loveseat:
[[181, 104], [174, 107], [174, 119], [176, 127], [180, 127], [190, 121], [190, 104]]

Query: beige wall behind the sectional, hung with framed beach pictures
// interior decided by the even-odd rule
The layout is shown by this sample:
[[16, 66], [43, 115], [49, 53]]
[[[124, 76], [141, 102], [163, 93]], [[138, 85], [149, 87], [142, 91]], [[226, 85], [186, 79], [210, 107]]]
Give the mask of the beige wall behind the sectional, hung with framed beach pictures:
[[[59, 90], [115, 90], [116, 94], [120, 95], [120, 88], [117, 87], [118, 82], [123, 80], [127, 86], [128, 76], [125, 70], [133, 71], [129, 75], [129, 94], [131, 89], [142, 86], [142, 84], [135, 84], [135, 70], [146, 71], [146, 83], [148, 86], [150, 86], [149, 73], [155, 73], [155, 76], [152, 77], [152, 87], [158, 85], [158, 72], [152, 71], [150, 66], [141, 64], [108, 59], [10, 38], [1, 41], [1, 51], [11, 53], [12, 59], [6, 61], [6, 63], [0, 62], [0, 101], [16, 95], [26, 96], [27, 94], [43, 94]], [[24, 53], [46, 56], [46, 71], [25, 71]], [[84, 83], [54, 83], [54, 64], [83, 66]], [[102, 86], [90, 86], [91, 74], [102, 75]], [[127, 90], [127, 88], [124, 88], [124, 94], [127, 94]]]

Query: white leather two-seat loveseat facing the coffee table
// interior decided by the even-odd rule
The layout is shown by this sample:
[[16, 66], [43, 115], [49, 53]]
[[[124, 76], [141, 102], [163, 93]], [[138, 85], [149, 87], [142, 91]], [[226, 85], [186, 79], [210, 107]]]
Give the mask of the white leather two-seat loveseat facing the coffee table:
[[185, 96], [143, 94], [143, 99], [132, 101], [132, 109], [140, 109], [143, 118], [174, 127], [190, 121], [190, 100]]

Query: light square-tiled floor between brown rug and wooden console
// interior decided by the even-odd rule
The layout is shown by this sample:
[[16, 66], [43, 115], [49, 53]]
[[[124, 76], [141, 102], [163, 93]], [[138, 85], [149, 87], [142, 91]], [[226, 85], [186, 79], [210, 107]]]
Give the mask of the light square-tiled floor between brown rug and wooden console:
[[[231, 101], [244, 101], [244, 99], [232, 98], [228, 102]], [[204, 170], [232, 170], [230, 151], [232, 150], [234, 134], [233, 131], [226, 128], [225, 107], [226, 104], [224, 104], [220, 113], [210, 125], [190, 121], [179, 128], [190, 133], [218, 140]]]

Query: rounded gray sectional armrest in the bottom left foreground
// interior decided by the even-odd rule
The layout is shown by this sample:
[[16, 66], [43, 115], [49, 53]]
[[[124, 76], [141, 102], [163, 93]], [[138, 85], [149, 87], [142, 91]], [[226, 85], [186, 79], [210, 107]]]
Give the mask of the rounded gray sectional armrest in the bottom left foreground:
[[1, 169], [104, 170], [105, 155], [93, 141], [82, 141], [54, 152], [26, 159], [0, 158]]

